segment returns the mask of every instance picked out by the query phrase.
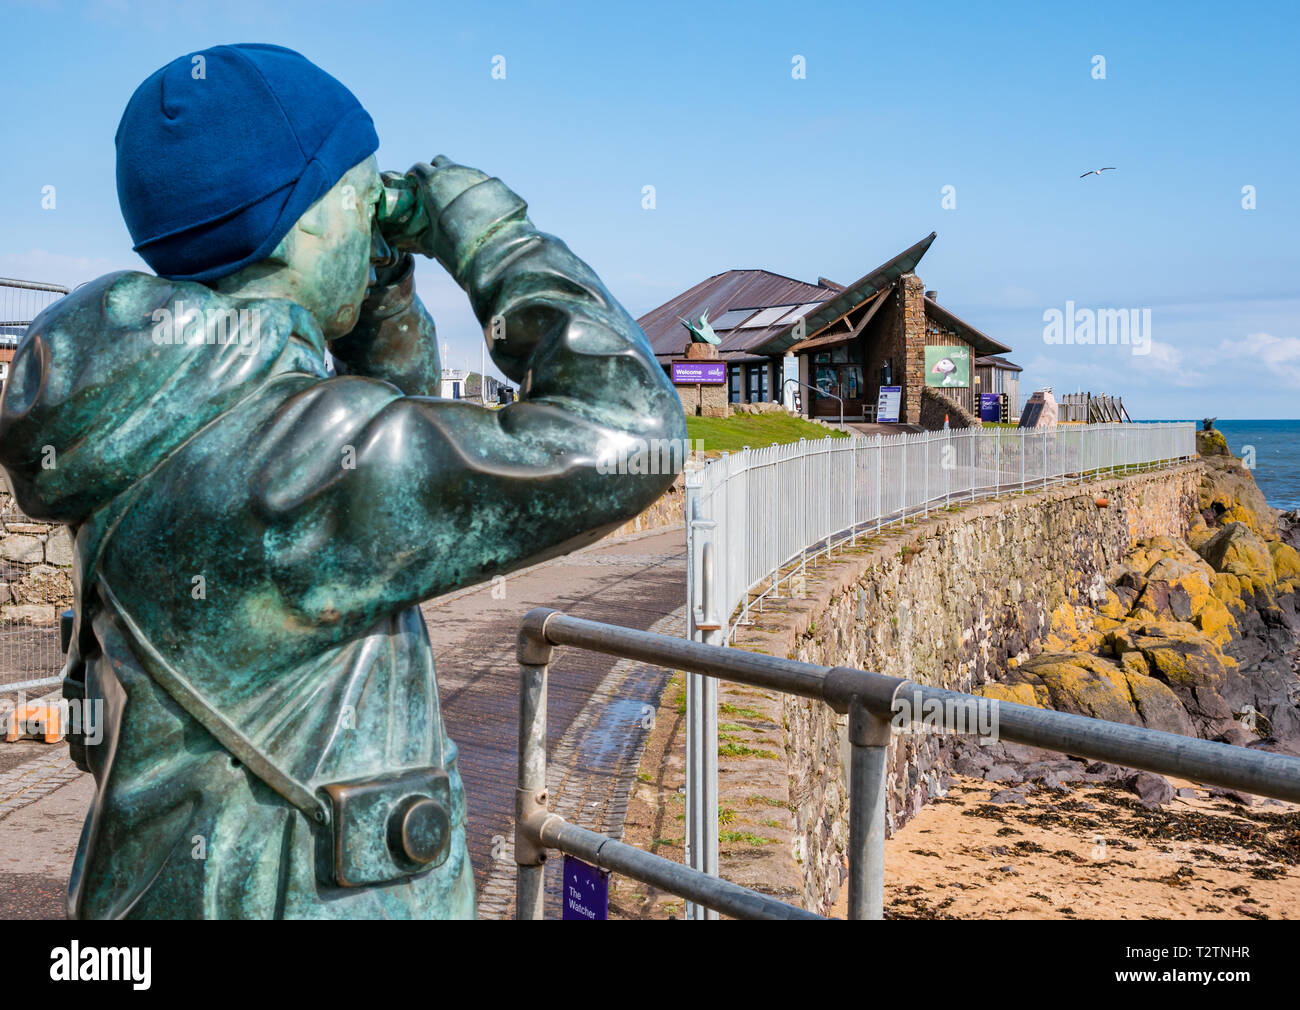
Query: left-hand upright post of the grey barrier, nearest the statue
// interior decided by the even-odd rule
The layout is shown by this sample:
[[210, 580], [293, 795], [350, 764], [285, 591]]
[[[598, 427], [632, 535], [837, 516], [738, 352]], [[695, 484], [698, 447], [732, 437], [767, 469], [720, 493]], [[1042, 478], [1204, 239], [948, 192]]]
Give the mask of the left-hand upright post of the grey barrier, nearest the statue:
[[[529, 615], [532, 616], [532, 615]], [[549, 616], [549, 615], [547, 615]], [[546, 898], [546, 848], [536, 837], [546, 814], [546, 673], [555, 649], [546, 617], [519, 633], [519, 771], [515, 785], [515, 918], [541, 919]]]

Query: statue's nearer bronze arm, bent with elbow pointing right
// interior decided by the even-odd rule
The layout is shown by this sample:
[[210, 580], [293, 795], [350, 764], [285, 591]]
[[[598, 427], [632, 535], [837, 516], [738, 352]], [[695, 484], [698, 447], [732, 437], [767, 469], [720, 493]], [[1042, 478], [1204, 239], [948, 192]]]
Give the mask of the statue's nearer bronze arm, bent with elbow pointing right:
[[277, 584], [308, 610], [369, 620], [572, 550], [667, 489], [664, 446], [680, 467], [677, 395], [592, 269], [495, 179], [438, 225], [438, 259], [489, 333], [497, 320], [493, 360], [521, 399], [494, 411], [346, 377], [291, 396], [254, 490]]

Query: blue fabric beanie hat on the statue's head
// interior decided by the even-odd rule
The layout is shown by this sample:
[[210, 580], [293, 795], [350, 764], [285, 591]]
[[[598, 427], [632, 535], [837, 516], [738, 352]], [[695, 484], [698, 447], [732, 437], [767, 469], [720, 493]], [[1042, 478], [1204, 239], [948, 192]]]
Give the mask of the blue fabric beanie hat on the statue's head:
[[380, 138], [356, 96], [307, 57], [244, 43], [152, 74], [116, 143], [135, 251], [160, 277], [211, 281], [269, 256]]

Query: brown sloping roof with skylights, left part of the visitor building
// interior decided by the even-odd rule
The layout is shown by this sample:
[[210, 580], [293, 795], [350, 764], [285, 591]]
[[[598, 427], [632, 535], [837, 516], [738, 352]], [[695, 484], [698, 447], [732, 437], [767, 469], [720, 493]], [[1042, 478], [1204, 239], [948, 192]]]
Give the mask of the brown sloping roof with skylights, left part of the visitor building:
[[[831, 287], [810, 285], [783, 277], [771, 270], [727, 270], [701, 281], [689, 291], [682, 291], [671, 302], [651, 309], [637, 325], [650, 338], [656, 355], [680, 356], [690, 335], [681, 325], [682, 318], [698, 320], [705, 311], [710, 320], [720, 318], [732, 308], [753, 308], [755, 312], [774, 305], [820, 304], [835, 295]], [[788, 313], [786, 313], [788, 317]], [[789, 324], [785, 324], [788, 328]], [[719, 333], [720, 351], [749, 351], [767, 341], [780, 326], [762, 329], [734, 329]]]

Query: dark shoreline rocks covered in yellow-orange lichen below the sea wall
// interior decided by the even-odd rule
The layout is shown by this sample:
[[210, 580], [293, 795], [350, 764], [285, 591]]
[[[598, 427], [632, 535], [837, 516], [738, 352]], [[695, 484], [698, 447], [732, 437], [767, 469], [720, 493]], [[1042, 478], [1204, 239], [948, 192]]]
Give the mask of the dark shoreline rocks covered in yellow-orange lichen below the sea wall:
[[[1186, 538], [1138, 541], [1084, 606], [1057, 607], [1045, 638], [978, 693], [1300, 755], [1300, 513], [1269, 507], [1222, 433], [1199, 433], [1197, 448], [1205, 468]], [[1148, 772], [970, 738], [953, 770], [1001, 784], [993, 803], [1024, 802], [1031, 785], [1117, 785], [1149, 807], [1175, 797]]]

